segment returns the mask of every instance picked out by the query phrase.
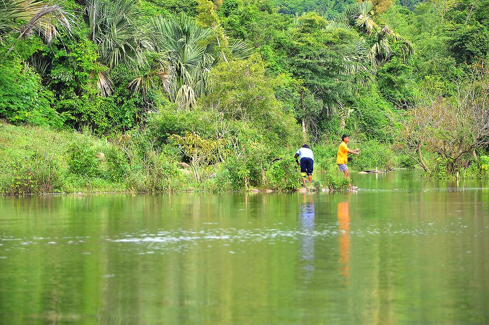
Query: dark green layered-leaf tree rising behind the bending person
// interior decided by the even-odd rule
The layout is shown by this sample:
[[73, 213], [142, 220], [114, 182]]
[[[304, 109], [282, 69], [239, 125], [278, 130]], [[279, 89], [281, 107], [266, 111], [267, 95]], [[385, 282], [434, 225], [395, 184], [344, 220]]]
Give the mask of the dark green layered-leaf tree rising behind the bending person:
[[297, 116], [313, 139], [325, 120], [348, 111], [352, 75], [368, 70], [366, 48], [351, 28], [330, 24], [317, 13], [297, 16], [289, 43], [282, 44], [289, 71], [307, 91], [302, 92]]

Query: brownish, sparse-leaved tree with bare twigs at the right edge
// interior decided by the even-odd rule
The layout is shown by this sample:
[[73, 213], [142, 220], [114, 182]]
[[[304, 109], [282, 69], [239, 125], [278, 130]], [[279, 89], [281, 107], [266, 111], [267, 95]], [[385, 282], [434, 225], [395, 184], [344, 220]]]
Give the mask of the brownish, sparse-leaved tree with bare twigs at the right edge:
[[467, 167], [475, 150], [489, 144], [489, 69], [487, 64], [472, 67], [467, 81], [457, 81], [453, 98], [430, 98], [409, 111], [403, 124], [404, 151], [425, 171], [421, 149], [436, 152], [449, 172]]

